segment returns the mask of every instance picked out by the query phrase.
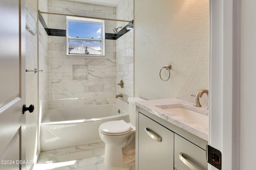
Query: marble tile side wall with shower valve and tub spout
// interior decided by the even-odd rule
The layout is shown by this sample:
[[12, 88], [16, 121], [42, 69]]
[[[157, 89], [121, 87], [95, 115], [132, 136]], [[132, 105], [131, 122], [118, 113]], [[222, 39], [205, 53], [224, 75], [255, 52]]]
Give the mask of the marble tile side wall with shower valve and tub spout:
[[[116, 18], [119, 20], [133, 20], [133, 0], [122, 0], [116, 7]], [[116, 26], [124, 27], [128, 23], [116, 22]], [[124, 81], [124, 88], [116, 85], [116, 94], [124, 94], [116, 103], [128, 109], [128, 97], [134, 97], [134, 31], [131, 29], [116, 40], [116, 84]]]

